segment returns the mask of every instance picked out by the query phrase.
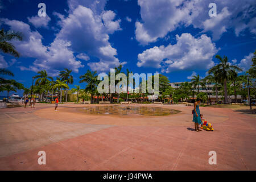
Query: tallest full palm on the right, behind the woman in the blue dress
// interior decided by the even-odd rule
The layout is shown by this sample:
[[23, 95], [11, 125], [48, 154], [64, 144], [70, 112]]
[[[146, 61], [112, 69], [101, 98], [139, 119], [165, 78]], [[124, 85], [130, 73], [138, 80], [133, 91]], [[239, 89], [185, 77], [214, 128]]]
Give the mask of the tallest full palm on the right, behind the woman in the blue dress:
[[228, 57], [224, 56], [223, 59], [220, 55], [215, 56], [220, 63], [212, 67], [208, 73], [213, 74], [217, 77], [217, 80], [224, 85], [224, 104], [228, 104], [228, 90], [226, 83], [228, 81], [229, 75], [232, 71], [242, 71], [241, 68], [238, 68], [236, 65], [231, 65], [228, 63]]

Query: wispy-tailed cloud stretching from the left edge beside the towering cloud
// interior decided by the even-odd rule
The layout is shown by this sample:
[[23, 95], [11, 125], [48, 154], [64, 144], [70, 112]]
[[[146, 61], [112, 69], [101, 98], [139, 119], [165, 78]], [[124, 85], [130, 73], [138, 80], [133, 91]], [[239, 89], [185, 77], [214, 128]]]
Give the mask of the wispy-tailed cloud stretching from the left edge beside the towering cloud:
[[74, 72], [84, 67], [79, 60], [75, 59], [69, 49], [70, 42], [55, 39], [49, 46], [42, 43], [42, 35], [38, 31], [32, 31], [27, 23], [18, 20], [1, 19], [9, 25], [11, 30], [23, 33], [23, 41], [14, 40], [13, 44], [22, 57], [32, 57], [36, 60], [29, 66], [21, 66], [22, 70], [40, 71], [46, 69], [51, 75], [56, 76], [60, 69], [70, 68]]

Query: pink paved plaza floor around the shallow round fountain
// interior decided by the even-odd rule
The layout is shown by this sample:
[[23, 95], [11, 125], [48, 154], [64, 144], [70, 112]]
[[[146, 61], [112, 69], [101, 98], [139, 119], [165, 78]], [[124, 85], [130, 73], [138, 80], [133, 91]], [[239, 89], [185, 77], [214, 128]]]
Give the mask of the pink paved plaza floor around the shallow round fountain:
[[[0, 110], [1, 170], [255, 170], [255, 115], [200, 107], [214, 131], [194, 131], [192, 106], [161, 117], [76, 112], [80, 104]], [[46, 165], [38, 152], [46, 152]], [[217, 164], [210, 165], [209, 151]]]

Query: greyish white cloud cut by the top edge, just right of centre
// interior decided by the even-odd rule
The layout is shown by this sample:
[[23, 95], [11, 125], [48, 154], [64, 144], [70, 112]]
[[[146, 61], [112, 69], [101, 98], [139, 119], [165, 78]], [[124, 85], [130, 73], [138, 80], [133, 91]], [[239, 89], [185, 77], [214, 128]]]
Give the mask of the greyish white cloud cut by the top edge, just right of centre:
[[142, 22], [135, 23], [136, 39], [146, 45], [155, 42], [158, 38], [163, 38], [168, 31], [175, 30], [177, 23], [187, 15], [186, 11], [176, 8], [181, 3], [181, 0], [138, 0], [138, 5], [141, 6]]

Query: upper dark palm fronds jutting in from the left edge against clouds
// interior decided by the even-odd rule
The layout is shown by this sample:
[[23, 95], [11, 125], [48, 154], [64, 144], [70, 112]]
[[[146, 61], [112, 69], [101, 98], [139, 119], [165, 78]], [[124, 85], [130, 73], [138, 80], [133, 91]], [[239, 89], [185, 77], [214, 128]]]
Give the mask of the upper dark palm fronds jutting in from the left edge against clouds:
[[11, 40], [22, 40], [22, 34], [20, 32], [0, 30], [0, 49], [3, 53], [10, 53], [15, 57], [19, 57], [19, 52], [15, 50]]

